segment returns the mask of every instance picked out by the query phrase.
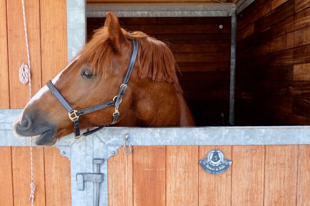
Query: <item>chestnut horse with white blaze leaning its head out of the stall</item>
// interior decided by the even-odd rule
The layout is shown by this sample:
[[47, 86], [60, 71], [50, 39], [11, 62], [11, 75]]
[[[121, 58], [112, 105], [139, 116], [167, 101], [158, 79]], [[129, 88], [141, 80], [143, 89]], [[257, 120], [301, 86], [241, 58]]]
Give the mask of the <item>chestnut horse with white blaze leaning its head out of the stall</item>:
[[[138, 41], [138, 54], [115, 126], [194, 126], [168, 46], [142, 32], [127, 33], [112, 12], [107, 13], [104, 27], [95, 32], [52, 83], [77, 110], [113, 99], [127, 72], [131, 39]], [[114, 107], [107, 107], [80, 116], [80, 127], [108, 124], [113, 112]], [[53, 145], [58, 138], [72, 133], [73, 126], [68, 112], [44, 86], [27, 103], [13, 131], [17, 136], [36, 135], [37, 145]]]

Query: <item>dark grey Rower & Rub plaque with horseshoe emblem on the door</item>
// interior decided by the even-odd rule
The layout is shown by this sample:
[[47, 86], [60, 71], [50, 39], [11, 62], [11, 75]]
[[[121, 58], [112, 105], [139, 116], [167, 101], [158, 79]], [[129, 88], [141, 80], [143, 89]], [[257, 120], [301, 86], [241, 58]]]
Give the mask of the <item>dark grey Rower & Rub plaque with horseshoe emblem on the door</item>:
[[214, 149], [208, 152], [205, 159], [199, 160], [203, 170], [210, 174], [222, 174], [232, 165], [232, 161], [224, 157], [224, 153]]

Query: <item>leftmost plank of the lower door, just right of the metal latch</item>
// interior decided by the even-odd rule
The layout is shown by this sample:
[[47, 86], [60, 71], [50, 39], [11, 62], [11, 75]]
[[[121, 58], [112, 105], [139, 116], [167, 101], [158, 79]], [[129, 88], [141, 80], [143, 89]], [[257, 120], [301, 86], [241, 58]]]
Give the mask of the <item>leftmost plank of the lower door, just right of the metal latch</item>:
[[[108, 205], [133, 205], [133, 168], [132, 157], [135, 146], [130, 154], [119, 148], [116, 156], [108, 160]], [[127, 148], [128, 149], [128, 148]]]

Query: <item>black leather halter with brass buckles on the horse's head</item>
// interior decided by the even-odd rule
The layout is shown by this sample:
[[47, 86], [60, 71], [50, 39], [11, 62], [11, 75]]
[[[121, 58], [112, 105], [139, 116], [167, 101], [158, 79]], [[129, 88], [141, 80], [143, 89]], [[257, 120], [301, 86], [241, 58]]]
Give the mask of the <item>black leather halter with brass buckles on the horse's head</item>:
[[[113, 100], [109, 100], [106, 101], [104, 103], [101, 104], [97, 104], [95, 106], [92, 107], [86, 107], [84, 109], [80, 109], [80, 110], [73, 110], [72, 107], [70, 107], [69, 103], [66, 101], [66, 99], [64, 99], [64, 97], [60, 94], [60, 92], [56, 89], [55, 85], [53, 85], [52, 81], [49, 80], [46, 85], [47, 87], [51, 90], [51, 92], [54, 94], [54, 96], [56, 97], [56, 99], [61, 103], [61, 105], [69, 112], [69, 118], [71, 121], [73, 121], [73, 128], [74, 128], [74, 137], [73, 137], [73, 141], [76, 142], [77, 138], [81, 138], [79, 142], [82, 141], [82, 138], [92, 134], [96, 131], [98, 131], [99, 129], [104, 128], [105, 126], [108, 125], [113, 125], [117, 122], [117, 119], [119, 117], [119, 112], [118, 112], [118, 107], [119, 104], [122, 102], [122, 97], [125, 94], [126, 88], [127, 88], [127, 84], [129, 81], [129, 77], [131, 75], [132, 72], [132, 68], [134, 67], [135, 64], [135, 60], [138, 54], [138, 41], [136, 39], [131, 39], [131, 43], [132, 43], [132, 52], [131, 52], [131, 57], [129, 60], [129, 65], [128, 65], [128, 70], [126, 72], [126, 75], [122, 81], [122, 84], [117, 92], [117, 95], [113, 98]], [[106, 107], [110, 107], [114, 105], [115, 106], [115, 112], [113, 113], [113, 119], [111, 121], [111, 123], [107, 124], [107, 125], [103, 125], [100, 126], [96, 129], [93, 129], [91, 131], [85, 132], [82, 135], [80, 134], [80, 124], [78, 121], [78, 118], [80, 115], [84, 115], [84, 114], [88, 114], [90, 112], [95, 112], [98, 111], [100, 109], [104, 109]], [[79, 143], [76, 142], [76, 143]]]

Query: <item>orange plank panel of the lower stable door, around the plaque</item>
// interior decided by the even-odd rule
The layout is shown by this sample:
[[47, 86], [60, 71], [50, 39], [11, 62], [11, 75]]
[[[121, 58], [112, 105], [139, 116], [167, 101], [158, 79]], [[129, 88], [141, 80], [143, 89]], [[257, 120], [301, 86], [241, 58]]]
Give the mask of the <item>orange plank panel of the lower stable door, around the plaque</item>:
[[[232, 160], [220, 175], [198, 160]], [[310, 146], [135, 146], [108, 160], [110, 206], [308, 206]]]

